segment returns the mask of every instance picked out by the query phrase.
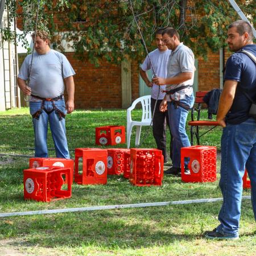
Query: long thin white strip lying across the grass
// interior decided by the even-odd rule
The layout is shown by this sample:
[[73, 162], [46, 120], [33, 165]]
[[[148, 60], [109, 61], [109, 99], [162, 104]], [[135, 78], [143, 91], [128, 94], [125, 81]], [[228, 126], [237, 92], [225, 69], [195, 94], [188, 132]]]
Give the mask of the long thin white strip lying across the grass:
[[[251, 199], [251, 196], [242, 196], [242, 199]], [[67, 208], [67, 209], [53, 209], [53, 210], [32, 210], [30, 212], [7, 212], [0, 213], [1, 217], [11, 216], [25, 216], [34, 214], [52, 214], [52, 213], [65, 213], [65, 212], [85, 212], [88, 210], [110, 210], [110, 209], [123, 209], [123, 208], [138, 208], [138, 207], [159, 207], [165, 205], [175, 204], [199, 204], [222, 201], [222, 198], [213, 199], [195, 199], [184, 201], [168, 201], [168, 202], [156, 202], [156, 203], [141, 203], [141, 204], [119, 204], [119, 205], [102, 205], [96, 207], [81, 207], [81, 208]]]

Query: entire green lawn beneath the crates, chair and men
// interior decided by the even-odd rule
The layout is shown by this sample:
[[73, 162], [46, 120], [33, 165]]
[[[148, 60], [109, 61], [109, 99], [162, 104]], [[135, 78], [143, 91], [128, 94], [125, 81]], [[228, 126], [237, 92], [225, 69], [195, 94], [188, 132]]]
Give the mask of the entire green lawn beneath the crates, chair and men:
[[[140, 114], [135, 110], [133, 118]], [[207, 113], [203, 114], [206, 117]], [[69, 148], [96, 147], [95, 127], [115, 124], [126, 125], [125, 110], [77, 110], [67, 117]], [[34, 135], [28, 109], [0, 113], [0, 130], [2, 154], [33, 155]], [[221, 129], [217, 127], [201, 142], [215, 145], [220, 151], [220, 137]], [[142, 130], [141, 138], [141, 147], [155, 147], [148, 127]], [[135, 129], [132, 147], [134, 141]], [[53, 148], [51, 139], [48, 145]], [[71, 151], [72, 157], [73, 154]], [[54, 151], [50, 155], [54, 156]], [[122, 176], [108, 176], [107, 185], [74, 183], [71, 199], [51, 203], [24, 201], [22, 170], [28, 167], [28, 159], [0, 156], [0, 163], [0, 213], [221, 197], [218, 180], [183, 183], [179, 177], [164, 176], [162, 187], [134, 187]], [[250, 190], [243, 195], [250, 195]], [[242, 202], [238, 241], [209, 241], [203, 236], [205, 230], [218, 224], [221, 202], [5, 217], [0, 218], [0, 254], [255, 255], [255, 220], [250, 204], [250, 200]]]

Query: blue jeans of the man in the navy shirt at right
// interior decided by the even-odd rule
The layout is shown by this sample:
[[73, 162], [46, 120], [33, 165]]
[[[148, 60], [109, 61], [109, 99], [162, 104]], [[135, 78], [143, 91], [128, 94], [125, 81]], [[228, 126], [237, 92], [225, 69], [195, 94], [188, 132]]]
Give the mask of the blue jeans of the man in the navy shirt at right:
[[256, 121], [247, 119], [223, 129], [221, 137], [220, 188], [223, 204], [217, 230], [237, 237], [241, 214], [242, 177], [245, 167], [251, 181], [251, 202], [256, 220]]

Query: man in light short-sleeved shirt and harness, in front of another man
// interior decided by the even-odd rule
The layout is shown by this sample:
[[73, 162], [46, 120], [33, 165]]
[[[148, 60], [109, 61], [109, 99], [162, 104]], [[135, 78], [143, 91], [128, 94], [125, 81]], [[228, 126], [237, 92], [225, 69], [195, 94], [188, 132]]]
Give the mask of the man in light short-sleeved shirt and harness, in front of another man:
[[[153, 82], [157, 85], [166, 84], [168, 90], [160, 104], [160, 111], [166, 111], [170, 120], [172, 136], [172, 168], [165, 171], [165, 174], [180, 175], [180, 149], [190, 146], [185, 125], [188, 110], [194, 103], [193, 77], [195, 72], [194, 55], [191, 49], [180, 42], [179, 33], [174, 28], [166, 28], [163, 31], [163, 42], [168, 49], [171, 49], [171, 56], [168, 63], [167, 78], [155, 77]], [[167, 104], [168, 101], [168, 104]], [[185, 174], [188, 170], [188, 158], [185, 159]]]

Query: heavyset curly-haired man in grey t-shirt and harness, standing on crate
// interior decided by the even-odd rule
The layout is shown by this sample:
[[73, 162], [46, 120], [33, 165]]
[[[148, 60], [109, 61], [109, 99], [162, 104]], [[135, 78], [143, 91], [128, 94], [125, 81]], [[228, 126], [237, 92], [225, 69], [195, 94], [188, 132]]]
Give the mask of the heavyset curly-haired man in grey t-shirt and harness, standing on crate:
[[[20, 67], [18, 85], [30, 96], [30, 114], [35, 133], [35, 157], [48, 157], [47, 131], [51, 128], [57, 158], [69, 158], [65, 135], [65, 115], [74, 110], [75, 71], [67, 58], [49, 47], [46, 31], [32, 34], [35, 52]], [[67, 88], [65, 104], [63, 92]]]

